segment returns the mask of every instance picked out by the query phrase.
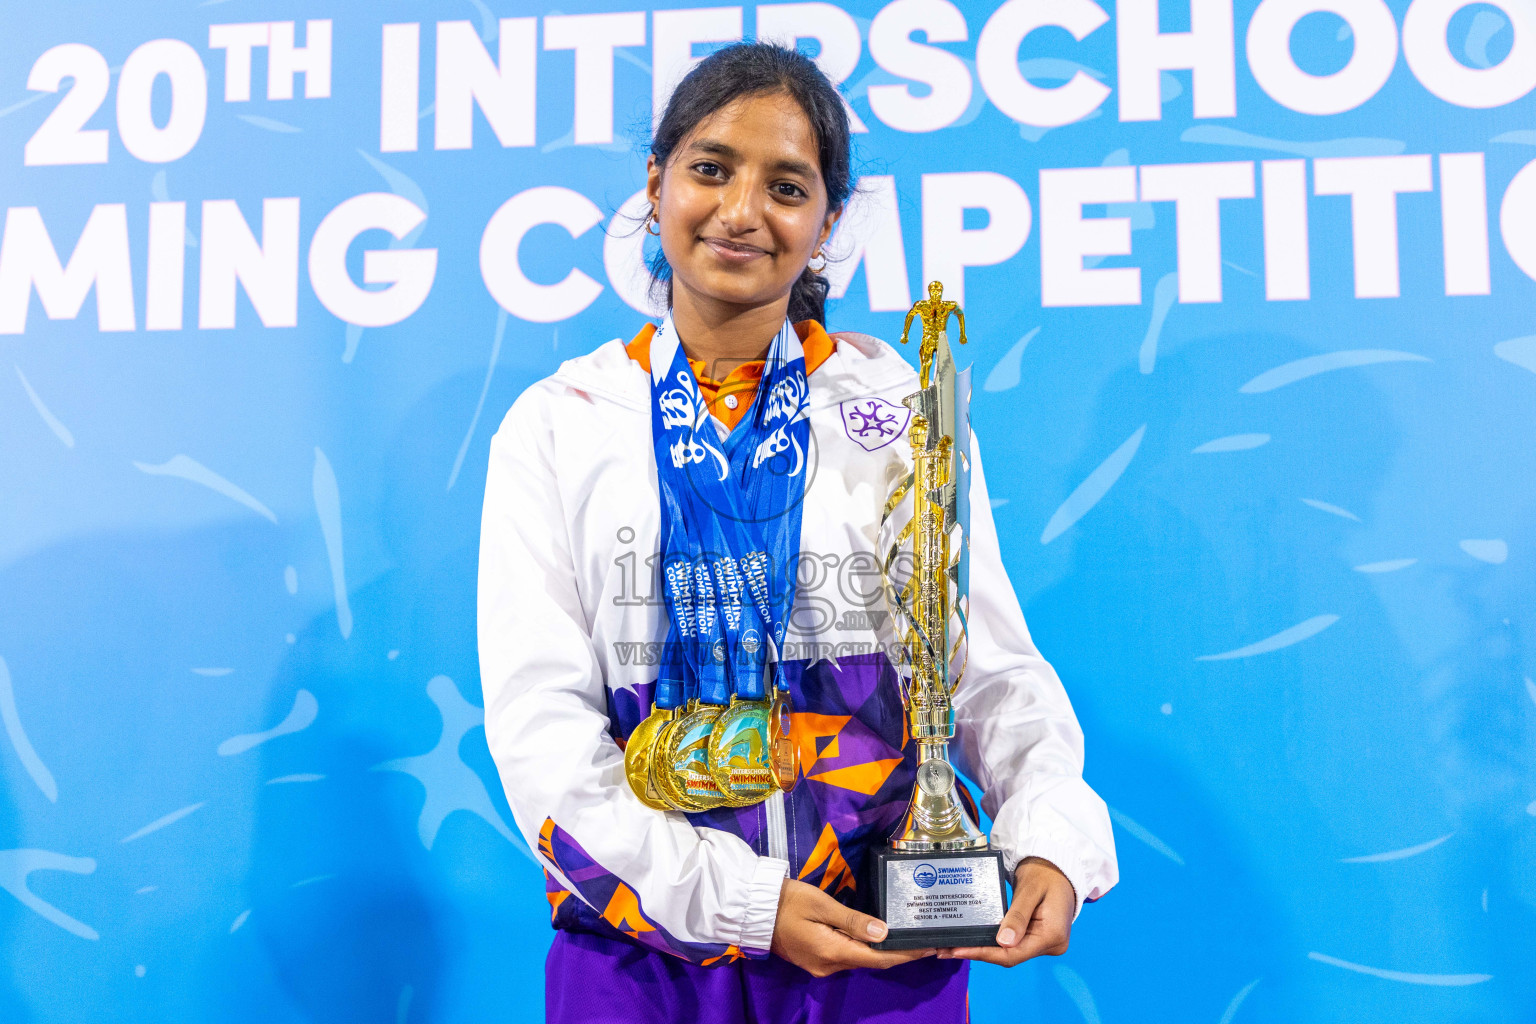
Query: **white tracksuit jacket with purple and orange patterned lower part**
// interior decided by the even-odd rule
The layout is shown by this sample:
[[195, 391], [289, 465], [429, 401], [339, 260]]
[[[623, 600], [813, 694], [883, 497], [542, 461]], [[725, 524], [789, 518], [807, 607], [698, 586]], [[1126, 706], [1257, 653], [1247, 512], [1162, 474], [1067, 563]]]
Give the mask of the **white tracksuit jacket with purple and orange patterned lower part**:
[[[693, 963], [766, 955], [788, 872], [852, 903], [914, 786], [876, 527], [911, 468], [917, 375], [883, 341], [834, 335], [809, 375], [813, 476], [785, 645], [802, 777], [763, 804], [653, 811], [624, 774], [650, 712], [667, 613], [650, 375], [622, 341], [570, 359], [492, 441], [479, 551], [485, 737], [518, 827], [545, 867], [556, 927], [624, 933]], [[1035, 649], [998, 551], [980, 461], [971, 510], [969, 663], [951, 755], [982, 789], [1009, 870], [1057, 864], [1083, 901], [1117, 880], [1083, 734]]]

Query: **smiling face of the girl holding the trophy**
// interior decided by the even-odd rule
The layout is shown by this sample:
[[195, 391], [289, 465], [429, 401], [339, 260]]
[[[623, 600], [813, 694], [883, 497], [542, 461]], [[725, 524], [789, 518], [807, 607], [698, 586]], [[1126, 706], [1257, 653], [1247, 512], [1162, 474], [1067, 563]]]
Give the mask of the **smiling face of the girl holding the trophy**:
[[837, 223], [816, 134], [785, 94], [720, 107], [673, 149], [665, 167], [651, 157], [648, 175], [674, 304], [785, 301]]

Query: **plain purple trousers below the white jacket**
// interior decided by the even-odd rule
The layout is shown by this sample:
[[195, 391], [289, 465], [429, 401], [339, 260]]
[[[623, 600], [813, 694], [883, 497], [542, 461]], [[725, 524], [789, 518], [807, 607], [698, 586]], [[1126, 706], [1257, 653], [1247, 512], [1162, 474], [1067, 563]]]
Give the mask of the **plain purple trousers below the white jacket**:
[[699, 967], [622, 938], [554, 932], [544, 964], [548, 1024], [965, 1024], [963, 960], [813, 978], [768, 956]]

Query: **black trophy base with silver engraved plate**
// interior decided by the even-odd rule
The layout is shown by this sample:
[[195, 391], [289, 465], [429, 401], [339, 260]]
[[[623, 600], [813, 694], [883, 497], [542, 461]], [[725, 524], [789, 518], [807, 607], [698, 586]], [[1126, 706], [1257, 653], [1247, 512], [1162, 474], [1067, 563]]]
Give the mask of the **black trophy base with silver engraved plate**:
[[871, 913], [889, 929], [874, 949], [997, 946], [1008, 912], [1001, 852], [883, 849], [874, 857], [872, 874]]

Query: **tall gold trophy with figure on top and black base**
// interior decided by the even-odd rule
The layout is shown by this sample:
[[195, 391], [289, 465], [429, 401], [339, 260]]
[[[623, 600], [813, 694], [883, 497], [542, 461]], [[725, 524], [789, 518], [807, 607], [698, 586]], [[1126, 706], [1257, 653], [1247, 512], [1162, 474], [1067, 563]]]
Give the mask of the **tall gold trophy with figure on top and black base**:
[[952, 694], [965, 672], [971, 528], [971, 372], [955, 372], [945, 333], [951, 316], [965, 344], [965, 315], [934, 281], [902, 327], [905, 344], [912, 319], [922, 322], [920, 388], [903, 399], [912, 410], [912, 471], [885, 504], [880, 582], [902, 643], [892, 660], [917, 743], [917, 788], [889, 846], [876, 854], [874, 913], [889, 929], [876, 949], [995, 946], [1008, 909], [1003, 855], [960, 803], [949, 763]]

